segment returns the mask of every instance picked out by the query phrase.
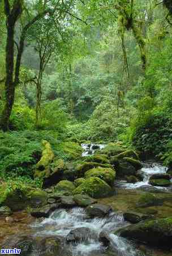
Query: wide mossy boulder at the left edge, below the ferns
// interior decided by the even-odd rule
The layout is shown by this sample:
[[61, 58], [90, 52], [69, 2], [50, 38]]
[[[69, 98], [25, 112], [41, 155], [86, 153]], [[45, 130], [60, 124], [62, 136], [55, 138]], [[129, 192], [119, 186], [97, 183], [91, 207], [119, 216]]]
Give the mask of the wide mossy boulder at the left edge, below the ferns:
[[45, 205], [48, 194], [41, 189], [29, 187], [27, 185], [16, 186], [3, 184], [0, 187], [0, 205], [7, 205], [11, 210], [23, 210], [28, 206], [40, 207]]

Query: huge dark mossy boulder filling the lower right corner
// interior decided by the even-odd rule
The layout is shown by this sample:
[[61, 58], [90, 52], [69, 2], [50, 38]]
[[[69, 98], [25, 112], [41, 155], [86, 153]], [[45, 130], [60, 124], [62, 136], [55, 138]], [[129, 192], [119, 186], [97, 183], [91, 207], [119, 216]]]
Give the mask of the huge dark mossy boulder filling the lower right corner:
[[172, 247], [172, 218], [159, 218], [148, 220], [139, 224], [127, 226], [118, 231], [120, 236], [151, 243], [156, 246]]

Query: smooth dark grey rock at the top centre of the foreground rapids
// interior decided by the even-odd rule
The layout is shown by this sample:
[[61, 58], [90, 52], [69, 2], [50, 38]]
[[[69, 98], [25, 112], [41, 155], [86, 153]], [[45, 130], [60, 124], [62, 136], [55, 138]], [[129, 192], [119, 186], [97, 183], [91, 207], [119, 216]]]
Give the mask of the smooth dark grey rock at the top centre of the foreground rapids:
[[104, 204], [92, 204], [86, 208], [86, 212], [91, 217], [102, 217], [111, 212], [111, 207]]

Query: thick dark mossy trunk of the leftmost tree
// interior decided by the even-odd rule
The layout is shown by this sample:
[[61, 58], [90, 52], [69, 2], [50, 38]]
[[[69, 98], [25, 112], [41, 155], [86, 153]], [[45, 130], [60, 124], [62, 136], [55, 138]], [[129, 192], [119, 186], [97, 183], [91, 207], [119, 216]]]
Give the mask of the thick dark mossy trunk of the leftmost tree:
[[1, 127], [3, 131], [8, 130], [9, 119], [14, 103], [15, 85], [13, 81], [14, 72], [14, 21], [7, 19], [7, 43], [6, 43], [6, 81], [5, 81], [5, 107], [2, 112]]

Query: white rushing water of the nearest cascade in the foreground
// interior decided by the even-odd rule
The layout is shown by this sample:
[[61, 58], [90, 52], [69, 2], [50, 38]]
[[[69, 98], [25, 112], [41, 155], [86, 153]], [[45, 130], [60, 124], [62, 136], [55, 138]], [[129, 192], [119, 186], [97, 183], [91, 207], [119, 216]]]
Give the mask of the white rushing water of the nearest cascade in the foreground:
[[[73, 256], [104, 256], [109, 255], [108, 251], [102, 243], [98, 241], [100, 232], [105, 231], [109, 234], [110, 250], [113, 256], [138, 256], [139, 251], [124, 238], [118, 237], [112, 232], [126, 226], [121, 214], [111, 212], [109, 216], [104, 218], [89, 218], [85, 209], [73, 208], [70, 210], [58, 209], [51, 214], [49, 218], [45, 218], [41, 222], [35, 222], [32, 225], [36, 229], [35, 236], [58, 236], [63, 239], [65, 255]], [[87, 239], [78, 243], [67, 243], [66, 238], [71, 230], [78, 228], [88, 228]], [[71, 253], [71, 254], [70, 254]]]

